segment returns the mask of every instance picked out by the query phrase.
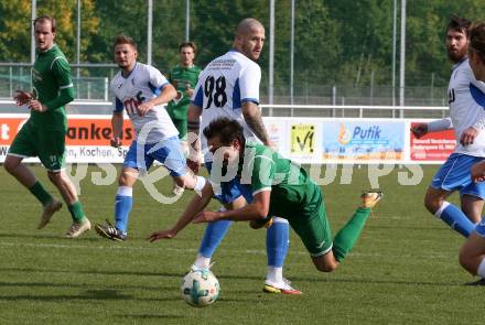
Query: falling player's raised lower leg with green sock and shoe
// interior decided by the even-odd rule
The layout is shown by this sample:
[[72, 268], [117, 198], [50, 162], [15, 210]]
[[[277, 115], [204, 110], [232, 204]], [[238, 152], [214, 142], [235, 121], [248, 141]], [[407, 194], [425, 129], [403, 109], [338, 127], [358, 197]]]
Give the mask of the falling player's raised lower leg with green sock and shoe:
[[342, 262], [347, 253], [354, 248], [362, 230], [370, 215], [370, 209], [382, 198], [380, 191], [367, 191], [360, 195], [360, 205], [347, 224], [334, 238], [333, 253], [338, 262]]

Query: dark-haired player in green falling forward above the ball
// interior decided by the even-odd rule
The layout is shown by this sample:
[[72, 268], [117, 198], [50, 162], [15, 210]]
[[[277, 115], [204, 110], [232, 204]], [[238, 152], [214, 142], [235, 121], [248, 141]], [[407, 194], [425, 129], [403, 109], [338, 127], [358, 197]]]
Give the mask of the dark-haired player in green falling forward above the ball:
[[[205, 185], [202, 197], [192, 199], [173, 228], [151, 234], [150, 241], [173, 238], [191, 221], [246, 220], [252, 228], [261, 228], [271, 221], [268, 216], [279, 216], [287, 218], [300, 236], [316, 269], [331, 272], [352, 250], [370, 208], [382, 196], [379, 191], [363, 193], [355, 214], [332, 238], [322, 191], [304, 169], [266, 145], [246, 142], [242, 127], [235, 120], [216, 119], [204, 129], [204, 136], [214, 153], [211, 183]], [[246, 184], [246, 189], [252, 194], [252, 203], [235, 210], [202, 212], [220, 183], [234, 177]]]

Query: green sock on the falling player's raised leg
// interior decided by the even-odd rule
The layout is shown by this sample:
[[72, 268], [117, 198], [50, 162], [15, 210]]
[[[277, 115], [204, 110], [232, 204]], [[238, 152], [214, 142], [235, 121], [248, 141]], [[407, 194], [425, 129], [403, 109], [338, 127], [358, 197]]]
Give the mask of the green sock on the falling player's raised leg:
[[332, 250], [338, 262], [342, 262], [347, 253], [354, 248], [369, 215], [370, 208], [359, 207], [347, 224], [335, 236]]

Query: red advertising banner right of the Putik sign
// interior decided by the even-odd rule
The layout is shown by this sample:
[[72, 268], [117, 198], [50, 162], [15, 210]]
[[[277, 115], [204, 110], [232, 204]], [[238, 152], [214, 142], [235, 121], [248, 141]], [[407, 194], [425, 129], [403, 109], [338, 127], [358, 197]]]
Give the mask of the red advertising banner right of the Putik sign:
[[411, 161], [445, 161], [456, 147], [454, 130], [431, 132], [420, 139], [410, 134]]

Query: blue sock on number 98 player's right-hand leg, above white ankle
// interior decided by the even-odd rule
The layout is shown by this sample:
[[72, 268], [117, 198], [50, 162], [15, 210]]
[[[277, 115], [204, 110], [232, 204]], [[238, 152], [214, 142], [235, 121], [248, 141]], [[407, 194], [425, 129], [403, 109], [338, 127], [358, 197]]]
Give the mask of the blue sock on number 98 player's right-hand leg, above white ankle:
[[282, 268], [289, 247], [290, 225], [288, 220], [273, 217], [271, 227], [266, 231], [268, 267]]

